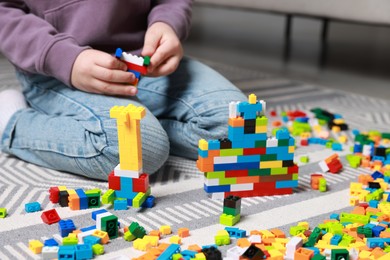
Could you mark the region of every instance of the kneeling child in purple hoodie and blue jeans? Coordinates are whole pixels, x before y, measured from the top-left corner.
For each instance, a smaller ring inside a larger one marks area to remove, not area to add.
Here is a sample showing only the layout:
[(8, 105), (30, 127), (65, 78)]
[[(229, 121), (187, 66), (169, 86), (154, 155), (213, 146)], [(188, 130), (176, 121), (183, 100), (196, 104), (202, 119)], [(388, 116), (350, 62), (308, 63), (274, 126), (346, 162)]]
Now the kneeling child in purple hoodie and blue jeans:
[[(118, 164), (111, 107), (147, 108), (141, 121), (144, 172), (168, 155), (197, 158), (200, 138), (226, 136), (228, 104), (245, 96), (209, 67), (183, 58), (191, 0), (1, 1), (0, 52), (20, 92), (0, 93), (5, 153), (96, 179)], [(138, 87), (112, 55), (151, 57)]]

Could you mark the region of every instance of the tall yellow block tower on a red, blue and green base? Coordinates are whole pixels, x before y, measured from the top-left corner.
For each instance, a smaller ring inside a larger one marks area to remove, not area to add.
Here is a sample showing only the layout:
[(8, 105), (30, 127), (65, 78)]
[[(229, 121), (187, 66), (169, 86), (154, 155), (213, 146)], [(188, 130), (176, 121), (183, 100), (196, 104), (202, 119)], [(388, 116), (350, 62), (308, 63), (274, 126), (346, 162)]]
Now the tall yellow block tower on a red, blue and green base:
[(117, 119), (119, 164), (108, 176), (103, 203), (126, 199), (128, 206), (138, 208), (150, 195), (149, 175), (142, 171), (140, 120), (144, 116), (145, 108), (132, 104), (110, 110), (110, 117)]

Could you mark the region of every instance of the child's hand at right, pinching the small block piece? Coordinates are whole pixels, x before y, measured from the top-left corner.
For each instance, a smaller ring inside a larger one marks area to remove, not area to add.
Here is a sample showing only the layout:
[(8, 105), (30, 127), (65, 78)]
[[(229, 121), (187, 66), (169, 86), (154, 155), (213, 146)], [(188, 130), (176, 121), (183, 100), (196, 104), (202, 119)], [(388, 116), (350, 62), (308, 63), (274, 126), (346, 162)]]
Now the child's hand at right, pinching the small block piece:
[(148, 76), (165, 76), (179, 66), (183, 48), (175, 31), (167, 24), (157, 22), (146, 31), (142, 56), (150, 56)]

